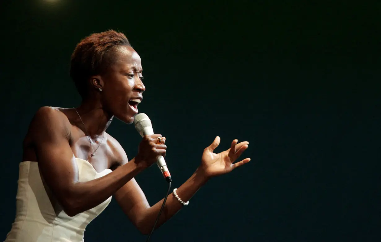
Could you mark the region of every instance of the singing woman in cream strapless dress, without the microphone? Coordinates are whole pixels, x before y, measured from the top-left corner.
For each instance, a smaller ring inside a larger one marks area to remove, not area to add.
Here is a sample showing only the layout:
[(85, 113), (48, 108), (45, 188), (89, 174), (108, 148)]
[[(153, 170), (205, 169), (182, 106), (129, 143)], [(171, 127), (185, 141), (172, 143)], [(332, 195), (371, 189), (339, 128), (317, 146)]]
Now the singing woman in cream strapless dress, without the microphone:
[[(81, 242), (88, 223), (112, 196), (141, 233), (154, 226), (163, 200), (150, 206), (134, 177), (165, 155), (165, 138), (144, 136), (138, 154), (128, 160), (106, 133), (113, 117), (131, 124), (138, 113), (146, 90), (138, 53), (122, 33), (95, 33), (75, 48), (70, 76), (82, 103), (78, 108), (42, 107), (34, 115), (23, 143), (16, 218), (6, 242)], [(234, 140), (230, 149), (213, 153), (219, 142), (216, 137), (194, 174), (168, 196), (156, 227), (208, 179), (250, 161), (234, 163), (248, 142)]]

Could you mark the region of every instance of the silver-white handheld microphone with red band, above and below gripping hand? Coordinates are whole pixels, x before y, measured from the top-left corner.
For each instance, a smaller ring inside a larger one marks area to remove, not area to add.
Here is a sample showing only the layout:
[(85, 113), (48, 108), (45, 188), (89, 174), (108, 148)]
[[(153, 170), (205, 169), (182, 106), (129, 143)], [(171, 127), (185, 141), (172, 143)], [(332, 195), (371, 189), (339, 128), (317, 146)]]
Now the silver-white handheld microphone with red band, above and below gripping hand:
[[(152, 123), (147, 114), (137, 114), (134, 119), (134, 124), (136, 130), (139, 132), (139, 134), (143, 137), (145, 135), (151, 135), (154, 134), (154, 129), (152, 128)], [(164, 157), (162, 155), (159, 155), (157, 157), (156, 161), (157, 166), (159, 167), (160, 171), (162, 172), (165, 180), (167, 182), (172, 182), (171, 174), (169, 173), (169, 170), (166, 166)]]

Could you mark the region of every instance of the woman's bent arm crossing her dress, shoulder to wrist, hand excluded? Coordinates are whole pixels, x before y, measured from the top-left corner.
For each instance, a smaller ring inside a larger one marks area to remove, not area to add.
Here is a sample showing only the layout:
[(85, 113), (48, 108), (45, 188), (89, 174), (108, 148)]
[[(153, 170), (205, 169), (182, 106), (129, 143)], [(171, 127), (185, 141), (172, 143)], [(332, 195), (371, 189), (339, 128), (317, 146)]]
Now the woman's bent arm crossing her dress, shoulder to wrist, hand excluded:
[(79, 182), (77, 163), (69, 145), (70, 127), (64, 114), (43, 107), (35, 114), (30, 133), (43, 179), (66, 214), (74, 216), (101, 204), (144, 166), (126, 163), (106, 176)]

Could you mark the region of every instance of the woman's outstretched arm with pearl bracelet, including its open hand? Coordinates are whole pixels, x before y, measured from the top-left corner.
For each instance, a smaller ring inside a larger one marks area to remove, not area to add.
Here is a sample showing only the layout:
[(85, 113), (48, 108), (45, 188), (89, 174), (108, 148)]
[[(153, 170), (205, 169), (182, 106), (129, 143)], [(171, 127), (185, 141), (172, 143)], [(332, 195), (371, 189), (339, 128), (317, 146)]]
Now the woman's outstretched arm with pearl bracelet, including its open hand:
[[(199, 190), (210, 177), (230, 172), (234, 168), (250, 161), (249, 158), (246, 158), (238, 163), (233, 163), (242, 152), (248, 148), (248, 142), (237, 144), (237, 140), (234, 140), (229, 150), (215, 154), (213, 153), (213, 150), (218, 144), (219, 137), (217, 137), (215, 141), (204, 150), (200, 167), (176, 191), (182, 201), (189, 201), (189, 199), (191, 199), (197, 190)], [(131, 179), (126, 185), (120, 188), (120, 190), (115, 193), (115, 198), (118, 204), (122, 207), (122, 210), (139, 231), (142, 234), (150, 233), (160, 207), (163, 204), (163, 199), (150, 207), (146, 196), (134, 179)], [(176, 214), (181, 207), (182, 204), (177, 200), (173, 193), (168, 195), (168, 199), (156, 228)]]

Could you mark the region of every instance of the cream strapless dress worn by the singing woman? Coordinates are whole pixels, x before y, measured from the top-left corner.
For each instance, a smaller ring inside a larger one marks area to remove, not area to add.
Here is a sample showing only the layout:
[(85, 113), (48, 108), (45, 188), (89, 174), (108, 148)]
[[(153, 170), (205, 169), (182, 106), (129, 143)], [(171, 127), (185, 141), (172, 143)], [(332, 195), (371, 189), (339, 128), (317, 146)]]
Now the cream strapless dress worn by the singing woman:
[[(96, 172), (85, 160), (76, 158), (79, 180), (85, 182), (111, 172)], [(98, 206), (69, 217), (41, 179), (37, 162), (19, 165), (16, 218), (5, 242), (82, 242), (86, 226), (109, 205), (111, 197)]]

